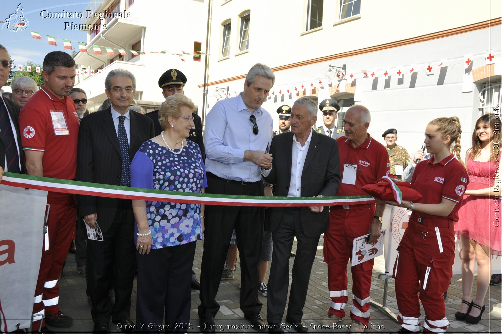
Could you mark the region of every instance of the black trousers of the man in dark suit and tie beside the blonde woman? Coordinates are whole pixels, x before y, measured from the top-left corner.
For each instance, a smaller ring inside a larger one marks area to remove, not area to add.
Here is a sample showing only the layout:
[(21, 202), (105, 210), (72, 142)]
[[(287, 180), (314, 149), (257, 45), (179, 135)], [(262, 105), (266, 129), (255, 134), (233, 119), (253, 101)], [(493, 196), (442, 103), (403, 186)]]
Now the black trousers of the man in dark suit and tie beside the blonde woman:
[[(99, 216), (97, 217), (99, 224)], [(131, 313), (136, 265), (134, 215), (131, 200), (118, 200), (115, 218), (103, 233), (104, 241), (87, 240), (86, 274), (94, 322), (126, 319)], [(108, 298), (115, 287), (115, 305)]]

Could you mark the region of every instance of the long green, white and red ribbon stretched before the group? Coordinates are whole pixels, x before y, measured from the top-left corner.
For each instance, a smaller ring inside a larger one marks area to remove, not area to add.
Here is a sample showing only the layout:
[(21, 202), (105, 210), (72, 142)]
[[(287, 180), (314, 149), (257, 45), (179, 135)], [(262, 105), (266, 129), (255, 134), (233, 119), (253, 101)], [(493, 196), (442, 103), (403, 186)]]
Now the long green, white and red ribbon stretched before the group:
[(32, 175), (5, 173), (3, 185), (44, 190), (56, 193), (89, 195), (131, 200), (169, 203), (195, 203), (233, 206), (329, 206), (375, 203), (369, 195), (334, 197), (264, 197), (185, 193), (134, 187), (103, 185), (99, 183), (51, 179)]

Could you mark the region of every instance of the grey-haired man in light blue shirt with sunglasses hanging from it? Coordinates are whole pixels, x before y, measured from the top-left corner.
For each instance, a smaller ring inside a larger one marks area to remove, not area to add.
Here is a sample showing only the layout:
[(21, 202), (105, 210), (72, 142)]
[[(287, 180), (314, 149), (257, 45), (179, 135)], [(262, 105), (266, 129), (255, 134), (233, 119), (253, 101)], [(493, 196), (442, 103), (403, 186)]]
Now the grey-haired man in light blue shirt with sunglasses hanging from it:
[[(206, 193), (264, 196), (261, 168), (270, 169), (267, 153), (272, 140), (272, 116), (261, 106), (274, 85), (275, 75), (264, 64), (247, 73), (244, 90), (237, 97), (218, 101), (207, 114)], [(267, 187), (270, 194), (272, 190)], [(264, 208), (206, 205), (204, 253), (198, 307), (200, 327), (215, 331), (219, 309), (216, 301), (228, 244), (235, 228), (240, 253), (240, 309), (252, 328), (265, 328), (258, 299), (258, 266), (262, 250)]]

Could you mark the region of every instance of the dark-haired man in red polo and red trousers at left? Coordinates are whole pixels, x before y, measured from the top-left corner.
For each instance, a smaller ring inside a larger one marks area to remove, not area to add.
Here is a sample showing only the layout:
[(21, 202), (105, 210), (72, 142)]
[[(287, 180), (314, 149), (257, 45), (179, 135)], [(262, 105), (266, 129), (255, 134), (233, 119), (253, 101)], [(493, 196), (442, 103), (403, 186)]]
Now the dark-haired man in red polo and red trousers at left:
[[(19, 115), (26, 174), (73, 180), (77, 170), (78, 115), (68, 95), (75, 83), (75, 61), (65, 52), (54, 51), (45, 56), (43, 66), (45, 85)], [(74, 195), (53, 192), (47, 194), (47, 203), (50, 211), (35, 288), (34, 329), (39, 328), (38, 320), (44, 314), (43, 321), (54, 327), (70, 327), (73, 322), (59, 310), (58, 278), (75, 230), (77, 204)]]

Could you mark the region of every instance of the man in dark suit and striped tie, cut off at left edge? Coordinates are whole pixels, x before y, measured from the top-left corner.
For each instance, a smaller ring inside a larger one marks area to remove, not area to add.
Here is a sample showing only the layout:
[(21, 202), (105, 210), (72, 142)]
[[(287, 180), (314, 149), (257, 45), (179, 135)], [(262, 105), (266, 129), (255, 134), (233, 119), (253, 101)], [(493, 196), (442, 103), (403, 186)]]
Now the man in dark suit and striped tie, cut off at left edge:
[[(11, 61), (7, 49), (0, 44), (0, 89), (7, 84)], [(19, 107), (9, 99), (0, 97), (0, 167), (5, 172), (23, 172), (23, 149), (19, 132)]]

